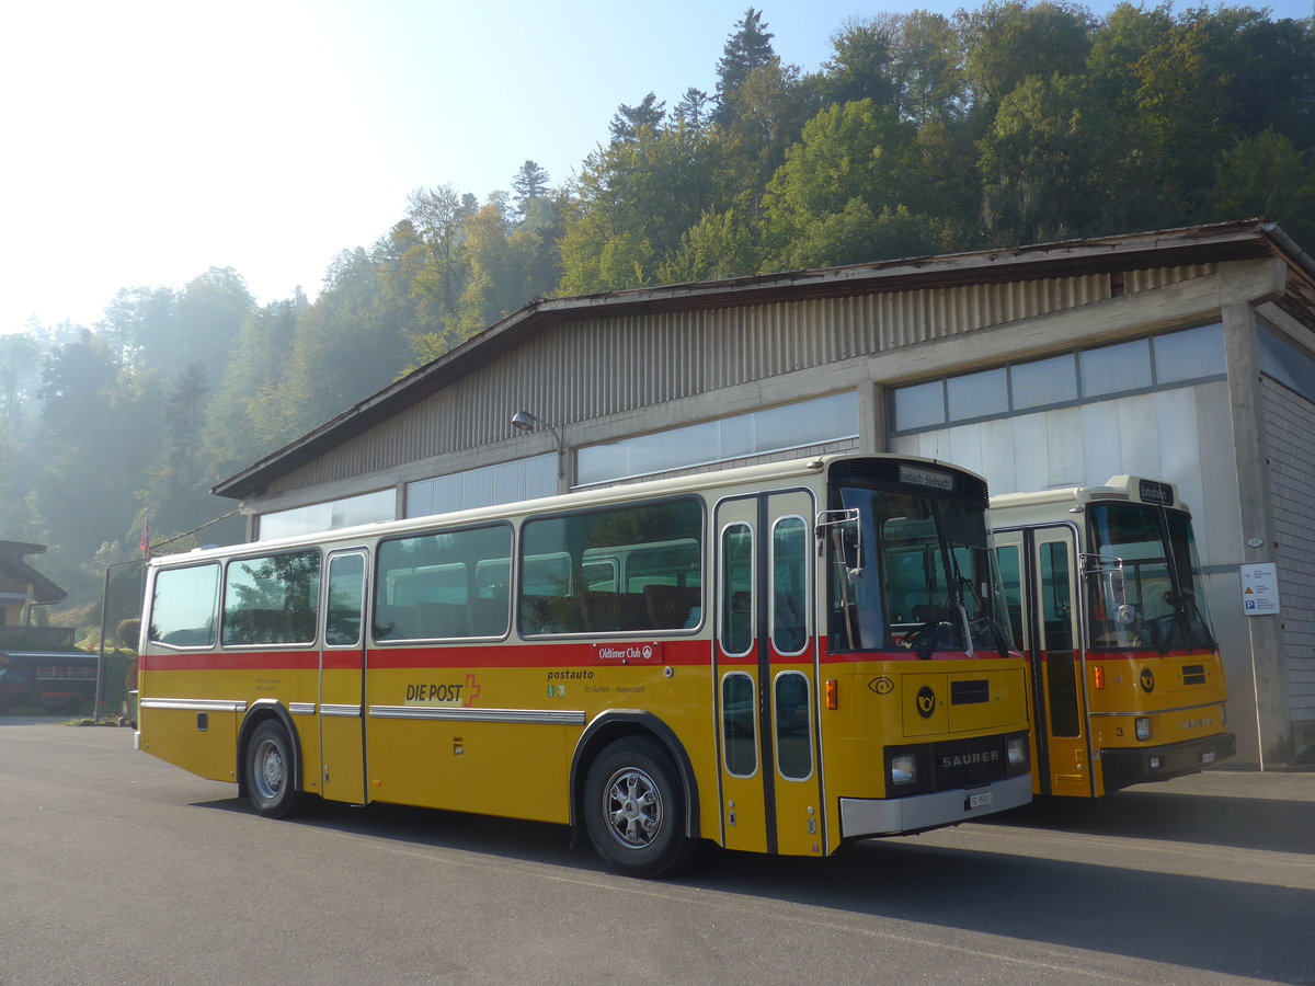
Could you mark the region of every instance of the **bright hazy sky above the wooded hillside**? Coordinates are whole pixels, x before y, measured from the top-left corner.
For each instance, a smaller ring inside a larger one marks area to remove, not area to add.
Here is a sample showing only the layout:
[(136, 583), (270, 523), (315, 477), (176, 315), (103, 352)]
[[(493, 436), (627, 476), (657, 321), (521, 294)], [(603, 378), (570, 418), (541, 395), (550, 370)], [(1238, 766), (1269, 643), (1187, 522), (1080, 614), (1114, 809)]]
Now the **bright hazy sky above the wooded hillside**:
[[(711, 92), (744, 0), (71, 0), (0, 13), (0, 333), (93, 325), (120, 288), (233, 267), (314, 297), (414, 188), (558, 184), (622, 103)], [(961, 3), (764, 3), (805, 71), (849, 17)], [(1109, 0), (1089, 4), (1103, 13)], [(1237, 5), (1237, 4), (1231, 4)], [(1260, 4), (1257, 4), (1260, 5)], [(1176, 9), (1184, 8), (1180, 3)], [(1281, 0), (1274, 17), (1306, 17)]]

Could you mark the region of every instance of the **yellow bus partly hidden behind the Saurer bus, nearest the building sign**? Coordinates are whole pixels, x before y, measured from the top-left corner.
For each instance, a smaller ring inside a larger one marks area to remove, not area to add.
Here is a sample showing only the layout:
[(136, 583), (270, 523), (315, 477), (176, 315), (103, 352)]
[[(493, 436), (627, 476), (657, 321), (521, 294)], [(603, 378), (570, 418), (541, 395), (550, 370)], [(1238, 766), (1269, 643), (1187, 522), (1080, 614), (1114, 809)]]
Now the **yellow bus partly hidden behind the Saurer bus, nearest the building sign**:
[(1036, 794), (1101, 797), (1236, 752), (1191, 514), (1173, 484), (992, 498), (1032, 672)]

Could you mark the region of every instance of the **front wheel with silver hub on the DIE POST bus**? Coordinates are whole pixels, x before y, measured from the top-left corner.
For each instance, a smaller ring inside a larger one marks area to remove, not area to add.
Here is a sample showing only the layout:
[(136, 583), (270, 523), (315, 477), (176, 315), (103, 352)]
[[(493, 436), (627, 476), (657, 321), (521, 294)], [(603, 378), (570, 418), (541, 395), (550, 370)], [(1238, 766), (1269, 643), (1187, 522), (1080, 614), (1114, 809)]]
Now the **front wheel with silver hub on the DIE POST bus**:
[(685, 791), (671, 757), (633, 736), (604, 748), (584, 782), (584, 824), (602, 860), (629, 877), (663, 877), (684, 865)]

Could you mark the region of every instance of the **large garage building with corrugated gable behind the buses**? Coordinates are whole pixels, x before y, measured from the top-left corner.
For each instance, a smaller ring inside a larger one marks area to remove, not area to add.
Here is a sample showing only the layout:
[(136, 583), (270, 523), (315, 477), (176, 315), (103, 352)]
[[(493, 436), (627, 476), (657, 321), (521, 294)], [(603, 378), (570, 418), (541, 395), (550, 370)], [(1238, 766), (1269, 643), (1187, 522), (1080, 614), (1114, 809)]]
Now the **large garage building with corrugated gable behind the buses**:
[(537, 301), (213, 492), (264, 539), (842, 451), (1177, 484), (1237, 763), (1315, 763), (1315, 258), (1265, 220)]

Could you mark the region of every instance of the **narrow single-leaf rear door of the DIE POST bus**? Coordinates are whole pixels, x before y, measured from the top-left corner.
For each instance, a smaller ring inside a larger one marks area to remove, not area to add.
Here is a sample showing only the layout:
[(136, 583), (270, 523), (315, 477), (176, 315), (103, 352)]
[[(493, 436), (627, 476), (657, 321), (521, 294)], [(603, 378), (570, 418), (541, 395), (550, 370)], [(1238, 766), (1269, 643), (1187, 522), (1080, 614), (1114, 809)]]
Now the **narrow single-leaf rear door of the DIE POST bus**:
[[(330, 801), (366, 803), (364, 551), (329, 556), (320, 651), (320, 781)], [(310, 765), (306, 766), (310, 769)]]

